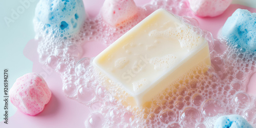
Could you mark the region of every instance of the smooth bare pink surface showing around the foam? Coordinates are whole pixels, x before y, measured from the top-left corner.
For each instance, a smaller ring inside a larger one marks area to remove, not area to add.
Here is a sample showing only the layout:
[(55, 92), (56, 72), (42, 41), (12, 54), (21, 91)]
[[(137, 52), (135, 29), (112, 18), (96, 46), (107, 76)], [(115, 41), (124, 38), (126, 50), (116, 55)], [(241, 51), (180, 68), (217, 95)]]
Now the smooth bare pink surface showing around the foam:
[[(135, 1), (138, 6), (144, 5), (147, 1)], [(84, 0), (84, 6), (90, 17), (98, 14), (103, 0), (89, 1)], [(214, 18), (199, 18), (194, 16), (199, 23), (200, 28), (210, 31), (214, 37), (217, 37), (218, 31), (224, 25), (226, 19), (237, 9), (248, 9), (251, 12), (256, 12), (256, 9), (248, 8), (241, 5), (231, 5), (224, 14)], [(83, 45), (83, 57), (94, 57), (98, 55), (106, 47), (102, 42), (91, 41)], [(60, 76), (46, 69), (38, 62), (38, 54), (36, 51), (37, 41), (30, 40), (24, 49), (24, 55), (33, 61), (33, 72), (44, 73), (47, 75), (46, 82), (52, 91), (52, 98), (46, 105), (45, 110), (36, 116), (28, 116), (20, 111), (17, 111), (14, 116), (9, 118), (9, 124), (0, 122), (0, 127), (84, 127), (84, 121), (91, 113), (89, 108), (75, 100), (67, 98), (62, 93), (62, 82)], [(256, 74), (252, 75), (247, 89), (248, 93), (256, 94)]]

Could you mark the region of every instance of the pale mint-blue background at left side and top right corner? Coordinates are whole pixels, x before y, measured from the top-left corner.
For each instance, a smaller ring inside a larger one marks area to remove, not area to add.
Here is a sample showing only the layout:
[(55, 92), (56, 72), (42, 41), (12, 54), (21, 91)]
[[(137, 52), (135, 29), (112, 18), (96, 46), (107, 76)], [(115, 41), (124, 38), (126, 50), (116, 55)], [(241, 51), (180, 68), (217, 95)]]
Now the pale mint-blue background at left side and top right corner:
[[(23, 5), (21, 2), (29, 2)], [(32, 19), (34, 10), (39, 0), (0, 0), (0, 121), (4, 114), (4, 69), (9, 69), (9, 89), (15, 80), (29, 72), (32, 72), (33, 63), (27, 59), (23, 50), (30, 39), (34, 38)], [(256, 8), (256, 0), (234, 0), (235, 4), (242, 4)], [(12, 9), (21, 13), (16, 16), (14, 23), (9, 27), (5, 17), (12, 18)], [(24, 10), (23, 10), (24, 9)], [(24, 11), (24, 12), (23, 12)], [(9, 102), (9, 117), (16, 112), (16, 109)]]

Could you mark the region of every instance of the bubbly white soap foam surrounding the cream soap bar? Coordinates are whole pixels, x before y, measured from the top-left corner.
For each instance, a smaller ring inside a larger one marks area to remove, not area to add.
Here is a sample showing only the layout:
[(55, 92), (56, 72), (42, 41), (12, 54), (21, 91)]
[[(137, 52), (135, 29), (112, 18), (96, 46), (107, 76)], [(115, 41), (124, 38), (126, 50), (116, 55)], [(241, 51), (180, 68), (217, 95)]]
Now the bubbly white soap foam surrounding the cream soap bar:
[[(99, 15), (87, 18), (78, 34), (65, 39), (54, 31), (37, 31), (39, 61), (60, 74), (63, 93), (90, 108), (87, 127), (212, 127), (222, 115), (242, 115), (256, 126), (256, 97), (245, 93), (250, 74), (255, 70), (255, 53), (227, 45), (225, 38), (213, 39), (197, 27), (193, 30), (209, 43), (211, 66), (204, 63), (176, 80), (170, 87), (141, 108), (126, 103), (130, 95), (92, 65), (94, 58), (81, 58), (81, 45), (99, 40), (109, 46), (144, 17), (158, 8), (183, 16), (182, 21), (198, 25), (190, 18), (185, 0), (154, 0), (138, 8), (125, 23), (112, 27)], [(35, 24), (35, 28), (38, 27)], [(42, 27), (39, 25), (39, 27)], [(225, 46), (216, 50), (216, 43)], [(207, 70), (208, 69), (208, 70)], [(97, 122), (97, 123), (96, 123)]]

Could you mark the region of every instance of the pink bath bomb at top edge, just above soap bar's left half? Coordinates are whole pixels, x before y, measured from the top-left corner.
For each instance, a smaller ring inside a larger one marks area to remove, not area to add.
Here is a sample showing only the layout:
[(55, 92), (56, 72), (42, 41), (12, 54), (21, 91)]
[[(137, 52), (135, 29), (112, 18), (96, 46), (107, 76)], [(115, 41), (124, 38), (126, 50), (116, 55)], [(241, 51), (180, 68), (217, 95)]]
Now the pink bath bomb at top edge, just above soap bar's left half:
[(133, 0), (105, 0), (100, 13), (106, 23), (118, 26), (137, 13), (137, 6)]

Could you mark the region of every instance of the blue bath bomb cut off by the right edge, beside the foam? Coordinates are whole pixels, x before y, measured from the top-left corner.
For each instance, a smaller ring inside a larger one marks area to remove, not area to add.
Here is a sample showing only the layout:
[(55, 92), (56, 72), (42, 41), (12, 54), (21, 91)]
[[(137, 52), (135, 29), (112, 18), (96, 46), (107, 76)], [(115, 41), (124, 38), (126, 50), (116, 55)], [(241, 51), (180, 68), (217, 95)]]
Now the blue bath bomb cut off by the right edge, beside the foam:
[(224, 24), (222, 35), (233, 45), (246, 51), (256, 51), (256, 13), (237, 9)]

